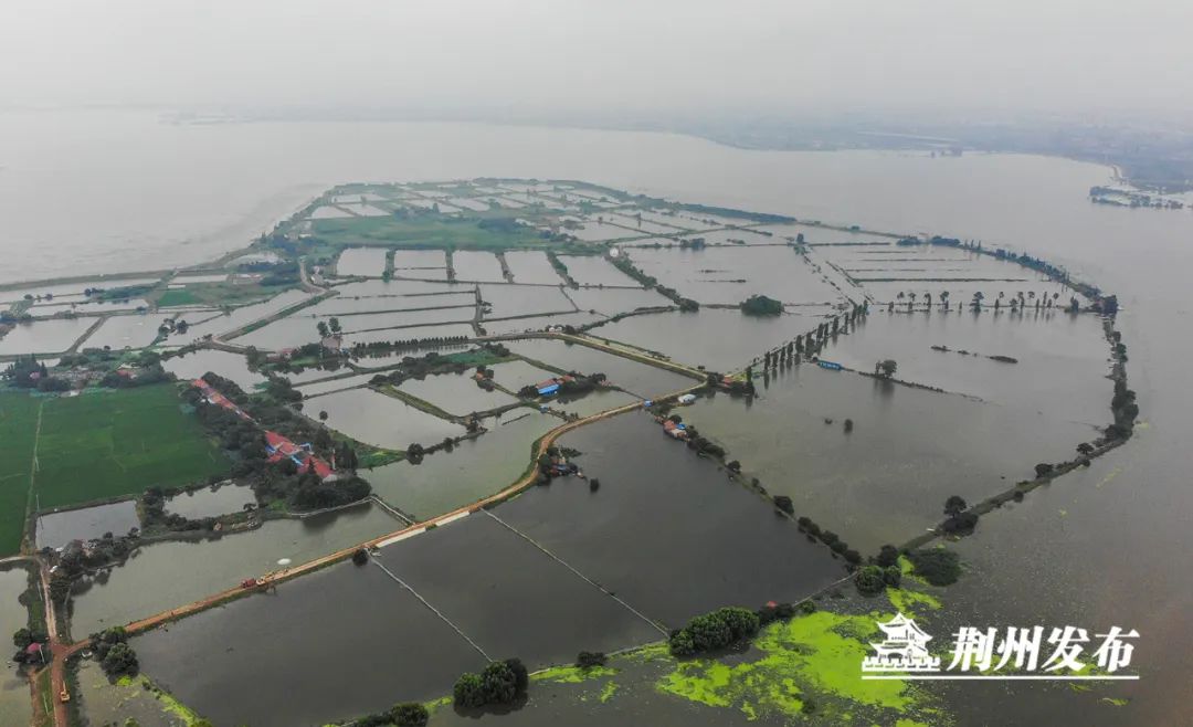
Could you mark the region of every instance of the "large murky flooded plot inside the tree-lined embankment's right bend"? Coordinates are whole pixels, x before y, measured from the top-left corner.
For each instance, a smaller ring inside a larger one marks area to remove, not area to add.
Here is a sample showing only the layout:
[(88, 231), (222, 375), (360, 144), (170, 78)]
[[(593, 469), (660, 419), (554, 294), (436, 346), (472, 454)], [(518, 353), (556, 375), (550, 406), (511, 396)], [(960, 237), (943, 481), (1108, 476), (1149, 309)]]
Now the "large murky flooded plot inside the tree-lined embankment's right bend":
[(1098, 435), (1084, 424), (809, 364), (755, 384), (760, 395), (748, 407), (717, 395), (684, 418), (769, 492), (791, 497), (796, 515), (863, 553), (937, 524), (951, 495), (981, 501)]

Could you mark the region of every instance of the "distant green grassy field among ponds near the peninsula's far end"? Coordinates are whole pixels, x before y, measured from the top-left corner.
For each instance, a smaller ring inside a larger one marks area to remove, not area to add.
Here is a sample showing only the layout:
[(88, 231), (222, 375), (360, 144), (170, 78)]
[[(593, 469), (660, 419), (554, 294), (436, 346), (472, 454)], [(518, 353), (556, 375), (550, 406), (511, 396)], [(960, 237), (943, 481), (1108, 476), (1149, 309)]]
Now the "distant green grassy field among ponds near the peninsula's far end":
[(527, 245), (546, 245), (528, 228), (513, 232), (483, 229), (477, 218), (418, 216), (344, 217), (315, 220), (314, 232), (338, 246), (402, 245), (410, 247), (455, 247), (458, 249), (503, 249)]

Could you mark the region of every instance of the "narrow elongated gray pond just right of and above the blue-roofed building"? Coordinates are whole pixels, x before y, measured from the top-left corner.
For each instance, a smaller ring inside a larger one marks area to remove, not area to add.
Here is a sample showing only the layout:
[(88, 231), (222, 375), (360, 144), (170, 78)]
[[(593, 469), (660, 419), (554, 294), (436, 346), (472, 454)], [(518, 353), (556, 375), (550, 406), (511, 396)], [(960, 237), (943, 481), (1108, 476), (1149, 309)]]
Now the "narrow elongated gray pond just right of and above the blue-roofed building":
[(585, 375), (604, 374), (607, 383), (644, 399), (669, 394), (696, 383), (687, 376), (580, 344), (525, 340), (509, 341), (506, 346), (532, 363), (542, 362), (563, 371)]

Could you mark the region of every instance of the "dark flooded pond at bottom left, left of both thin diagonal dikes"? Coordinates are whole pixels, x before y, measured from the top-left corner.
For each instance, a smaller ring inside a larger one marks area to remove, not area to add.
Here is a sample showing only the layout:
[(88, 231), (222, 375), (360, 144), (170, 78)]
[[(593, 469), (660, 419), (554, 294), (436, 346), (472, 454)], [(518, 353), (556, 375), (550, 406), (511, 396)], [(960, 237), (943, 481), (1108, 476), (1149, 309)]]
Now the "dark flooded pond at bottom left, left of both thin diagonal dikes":
[[(137, 636), (141, 669), (216, 725), (293, 727), (438, 697), (486, 659), (376, 565), (346, 562)], [(351, 654), (351, 669), (295, 669)]]

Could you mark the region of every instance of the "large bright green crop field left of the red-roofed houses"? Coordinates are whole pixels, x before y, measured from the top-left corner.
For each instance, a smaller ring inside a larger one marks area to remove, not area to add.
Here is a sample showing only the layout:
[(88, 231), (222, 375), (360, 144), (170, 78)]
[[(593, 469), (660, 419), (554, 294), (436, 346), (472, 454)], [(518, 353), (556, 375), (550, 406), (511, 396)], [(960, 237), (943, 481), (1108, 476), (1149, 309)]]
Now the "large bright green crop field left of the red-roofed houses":
[(228, 470), (172, 384), (49, 399), (33, 492), (42, 510), (202, 480)]

